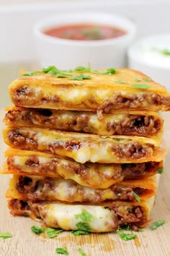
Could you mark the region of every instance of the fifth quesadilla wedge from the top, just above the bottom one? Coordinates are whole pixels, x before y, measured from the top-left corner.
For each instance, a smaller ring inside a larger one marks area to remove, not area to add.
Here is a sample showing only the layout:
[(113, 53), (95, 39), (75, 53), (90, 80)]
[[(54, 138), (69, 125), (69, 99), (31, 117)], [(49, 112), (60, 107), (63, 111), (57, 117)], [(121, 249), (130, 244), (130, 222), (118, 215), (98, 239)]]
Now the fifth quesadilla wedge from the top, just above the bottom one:
[(14, 175), (9, 182), (7, 198), (32, 201), (101, 203), (107, 200), (146, 200), (155, 195), (156, 176), (120, 182), (107, 189), (81, 186), (70, 179)]

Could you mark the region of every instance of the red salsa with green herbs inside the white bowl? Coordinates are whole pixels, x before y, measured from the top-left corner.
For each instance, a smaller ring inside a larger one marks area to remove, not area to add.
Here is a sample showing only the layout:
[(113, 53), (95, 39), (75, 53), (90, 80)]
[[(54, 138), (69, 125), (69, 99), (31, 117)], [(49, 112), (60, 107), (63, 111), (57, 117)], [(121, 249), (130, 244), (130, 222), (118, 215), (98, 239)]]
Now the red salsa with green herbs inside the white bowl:
[(97, 24), (63, 25), (60, 27), (51, 27), (43, 33), (55, 38), (69, 40), (104, 40), (127, 34), (127, 32), (120, 27)]

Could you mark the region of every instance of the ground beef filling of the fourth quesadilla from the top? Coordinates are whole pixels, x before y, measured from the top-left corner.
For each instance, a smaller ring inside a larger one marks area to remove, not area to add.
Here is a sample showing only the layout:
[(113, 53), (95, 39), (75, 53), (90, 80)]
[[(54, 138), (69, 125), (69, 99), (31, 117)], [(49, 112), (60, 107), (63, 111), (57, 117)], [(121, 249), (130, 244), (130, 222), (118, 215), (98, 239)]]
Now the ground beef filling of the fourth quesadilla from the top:
[[(8, 157), (7, 164), (17, 168), (18, 171), (22, 172), (21, 166), (17, 166), (14, 158)], [(108, 163), (107, 166), (112, 166), (112, 163)], [(77, 163), (76, 161), (61, 161), (60, 158), (51, 158), (50, 161), (40, 161), (37, 155), (30, 155), (24, 163), (26, 168), (31, 168), (32, 174), (48, 176), (49, 172), (56, 178), (65, 178), (58, 174), (58, 168), (62, 168), (65, 172), (72, 175), (81, 176), (81, 179), (86, 181), (88, 184), (93, 183), (92, 180), (95, 178), (98, 182), (104, 182), (107, 179), (120, 179), (121, 176), (124, 179), (140, 179), (143, 176), (150, 176), (156, 173), (157, 168), (160, 167), (159, 162), (144, 162), (144, 163), (115, 163), (112, 176), (108, 176), (103, 171), (100, 171), (101, 164), (96, 163)], [(99, 177), (99, 180), (98, 178)], [(90, 183), (91, 181), (91, 183)]]

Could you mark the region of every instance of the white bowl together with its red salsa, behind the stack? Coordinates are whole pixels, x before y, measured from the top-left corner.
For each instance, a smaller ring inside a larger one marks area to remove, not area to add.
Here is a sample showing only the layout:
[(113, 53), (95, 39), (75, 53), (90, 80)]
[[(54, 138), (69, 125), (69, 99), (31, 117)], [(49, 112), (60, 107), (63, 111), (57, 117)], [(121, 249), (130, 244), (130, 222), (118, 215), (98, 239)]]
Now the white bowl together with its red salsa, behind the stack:
[(99, 12), (65, 13), (35, 25), (40, 65), (73, 69), (88, 63), (94, 69), (126, 67), (126, 51), (135, 37), (127, 17)]

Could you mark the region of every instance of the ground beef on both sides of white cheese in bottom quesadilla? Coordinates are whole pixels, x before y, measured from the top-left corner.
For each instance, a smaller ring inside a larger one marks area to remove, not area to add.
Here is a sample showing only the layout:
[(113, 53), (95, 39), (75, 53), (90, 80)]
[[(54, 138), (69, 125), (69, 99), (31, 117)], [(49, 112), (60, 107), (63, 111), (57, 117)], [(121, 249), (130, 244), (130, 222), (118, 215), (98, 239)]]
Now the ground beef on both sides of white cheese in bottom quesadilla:
[[(35, 219), (41, 218), (40, 209), (43, 207), (44, 203), (31, 201), (24, 202), (22, 200), (12, 199), (9, 200), (8, 205), (12, 215), (30, 216), (30, 218)], [(137, 231), (139, 227), (146, 226), (146, 223), (148, 222), (145, 216), (145, 210), (140, 206), (113, 204), (109, 205), (108, 208), (115, 216), (115, 229), (122, 225), (128, 225)], [(43, 217), (45, 218), (45, 213), (43, 214)]]

